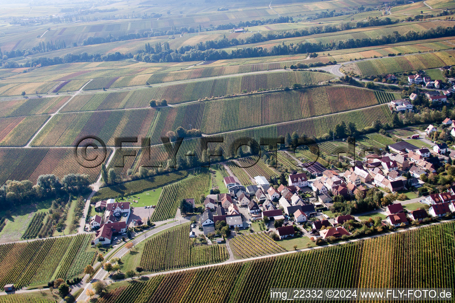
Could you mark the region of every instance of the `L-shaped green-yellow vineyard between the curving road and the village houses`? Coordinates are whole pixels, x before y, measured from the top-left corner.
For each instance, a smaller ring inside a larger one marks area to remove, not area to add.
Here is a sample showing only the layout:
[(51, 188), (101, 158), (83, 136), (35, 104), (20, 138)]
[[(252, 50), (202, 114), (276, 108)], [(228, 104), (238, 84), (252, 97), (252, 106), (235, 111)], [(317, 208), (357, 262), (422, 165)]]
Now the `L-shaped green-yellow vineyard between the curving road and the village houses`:
[(225, 245), (194, 245), (190, 231), (190, 224), (183, 224), (147, 240), (140, 266), (155, 272), (218, 263), (229, 257)]

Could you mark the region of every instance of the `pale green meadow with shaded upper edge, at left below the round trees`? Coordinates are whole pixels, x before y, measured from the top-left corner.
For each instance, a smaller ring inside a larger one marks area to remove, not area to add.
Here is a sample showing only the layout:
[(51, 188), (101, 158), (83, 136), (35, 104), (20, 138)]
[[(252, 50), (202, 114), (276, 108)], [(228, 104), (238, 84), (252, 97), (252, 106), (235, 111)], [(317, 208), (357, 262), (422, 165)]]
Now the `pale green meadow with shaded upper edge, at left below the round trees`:
[[(31, 219), (37, 212), (47, 212), (51, 208), (53, 199), (40, 201), (37, 204), (22, 205), (6, 219), (5, 227), (0, 232), (0, 243), (20, 240)], [(0, 211), (5, 216), (6, 211)], [(25, 227), (24, 227), (25, 226)]]

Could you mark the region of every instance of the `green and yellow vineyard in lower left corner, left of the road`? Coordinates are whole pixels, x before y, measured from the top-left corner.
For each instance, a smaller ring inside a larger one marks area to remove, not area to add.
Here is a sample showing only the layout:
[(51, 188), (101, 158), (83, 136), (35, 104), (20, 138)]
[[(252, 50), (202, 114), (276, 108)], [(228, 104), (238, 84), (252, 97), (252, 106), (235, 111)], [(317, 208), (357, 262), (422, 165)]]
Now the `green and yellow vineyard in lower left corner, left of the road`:
[(47, 284), (52, 277), (72, 278), (93, 262), (91, 235), (0, 245), (0, 281), (16, 288)]

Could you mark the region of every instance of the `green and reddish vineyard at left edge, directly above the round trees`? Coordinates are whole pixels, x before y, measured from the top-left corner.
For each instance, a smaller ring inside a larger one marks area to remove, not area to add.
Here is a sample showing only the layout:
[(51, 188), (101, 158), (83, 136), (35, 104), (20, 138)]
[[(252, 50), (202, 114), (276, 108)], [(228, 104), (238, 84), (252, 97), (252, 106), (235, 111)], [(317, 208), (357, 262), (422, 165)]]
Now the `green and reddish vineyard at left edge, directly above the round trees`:
[[(99, 151), (99, 150), (98, 150)], [(111, 154), (107, 150), (107, 159)], [(96, 153), (91, 154), (95, 156)], [(11, 161), (11, 159), (15, 159)], [(86, 164), (87, 165), (87, 164)], [(41, 174), (55, 174), (60, 179), (66, 174), (87, 174), (94, 182), (100, 168), (87, 169), (74, 157), (74, 150), (68, 149), (23, 149), (0, 148), (0, 183), (6, 180), (30, 180), (35, 183)]]

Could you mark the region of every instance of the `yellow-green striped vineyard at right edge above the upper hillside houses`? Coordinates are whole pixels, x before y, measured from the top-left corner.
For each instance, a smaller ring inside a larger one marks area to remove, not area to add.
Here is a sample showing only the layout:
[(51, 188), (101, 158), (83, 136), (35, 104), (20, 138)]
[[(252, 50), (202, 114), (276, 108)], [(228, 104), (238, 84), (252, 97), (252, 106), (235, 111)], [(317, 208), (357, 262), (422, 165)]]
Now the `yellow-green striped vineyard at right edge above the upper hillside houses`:
[(413, 70), (435, 69), (446, 65), (455, 65), (455, 51), (439, 51), (427, 54), (395, 56), (375, 60), (349, 63), (343, 68), (363, 76), (381, 75), (384, 73), (403, 73)]

